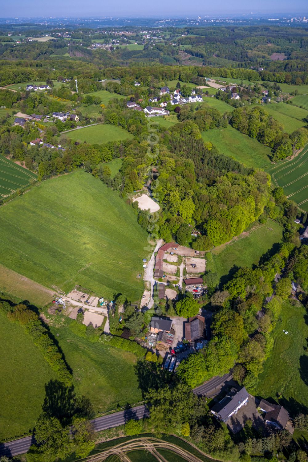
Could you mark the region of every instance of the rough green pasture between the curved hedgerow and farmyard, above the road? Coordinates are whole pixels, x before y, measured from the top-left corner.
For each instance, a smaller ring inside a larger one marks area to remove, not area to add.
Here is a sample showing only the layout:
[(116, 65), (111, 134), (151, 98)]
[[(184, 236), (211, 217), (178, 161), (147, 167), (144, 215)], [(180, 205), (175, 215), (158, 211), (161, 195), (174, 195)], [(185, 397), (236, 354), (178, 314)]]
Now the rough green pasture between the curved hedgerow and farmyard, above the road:
[(72, 368), (75, 390), (90, 399), (96, 415), (116, 409), (118, 404), (124, 407), (142, 401), (133, 353), (76, 335), (72, 328), (77, 322), (68, 317), (63, 316), (57, 324), (50, 325), (50, 330), (59, 334), (56, 339)]

